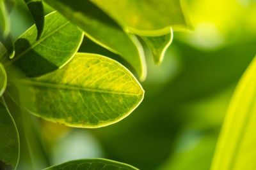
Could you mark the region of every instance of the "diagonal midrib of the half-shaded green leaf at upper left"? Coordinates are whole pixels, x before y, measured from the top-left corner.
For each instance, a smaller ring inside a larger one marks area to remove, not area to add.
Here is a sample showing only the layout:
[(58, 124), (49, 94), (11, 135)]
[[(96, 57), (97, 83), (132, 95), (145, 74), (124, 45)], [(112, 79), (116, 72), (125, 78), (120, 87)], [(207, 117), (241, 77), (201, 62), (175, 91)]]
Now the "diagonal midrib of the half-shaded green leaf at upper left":
[(57, 29), (55, 29), (54, 31), (50, 32), (49, 34), (47, 34), (46, 36), (38, 39), (38, 41), (36, 41), (35, 43), (33, 43), (33, 45), (29, 46), (29, 48), (27, 48), (26, 50), (24, 50), (24, 52), (20, 53), (19, 55), (17, 55), (16, 57), (14, 57), (12, 60), (10, 60), (9, 62), (7, 62), (8, 64), (12, 64), (13, 62), (15, 62), (15, 60), (18, 60), (20, 57), (22, 57), (22, 55), (24, 55), (25, 53), (29, 52), (30, 50), (32, 50), (33, 48), (35, 48), (37, 45), (39, 45), (42, 41), (44, 41), (45, 39), (49, 38), (49, 36), (51, 36), (52, 34), (54, 34), (55, 32), (59, 31), (60, 29), (62, 29), (63, 27), (65, 27), (70, 21), (65, 22), (63, 25), (61, 25), (60, 27), (58, 27)]

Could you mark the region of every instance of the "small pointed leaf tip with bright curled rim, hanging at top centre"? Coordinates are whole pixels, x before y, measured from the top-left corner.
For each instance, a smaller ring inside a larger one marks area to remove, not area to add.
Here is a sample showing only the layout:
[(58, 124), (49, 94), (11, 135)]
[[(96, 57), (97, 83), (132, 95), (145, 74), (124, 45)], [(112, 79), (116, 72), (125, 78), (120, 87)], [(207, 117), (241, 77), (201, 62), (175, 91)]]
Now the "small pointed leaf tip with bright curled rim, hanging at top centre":
[(152, 51), (154, 62), (157, 65), (161, 64), (167, 48), (172, 43), (173, 31), (171, 27), (170, 30), (170, 33), (163, 36), (141, 36), (143, 41), (145, 41), (145, 43)]

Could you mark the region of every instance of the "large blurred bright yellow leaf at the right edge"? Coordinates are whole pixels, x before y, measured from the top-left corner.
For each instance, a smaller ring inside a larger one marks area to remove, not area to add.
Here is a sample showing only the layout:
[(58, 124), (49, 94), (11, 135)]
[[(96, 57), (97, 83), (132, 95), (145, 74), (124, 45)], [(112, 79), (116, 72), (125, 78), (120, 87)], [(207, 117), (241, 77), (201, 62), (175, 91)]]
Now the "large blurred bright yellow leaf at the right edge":
[(256, 57), (230, 101), (211, 170), (256, 169)]

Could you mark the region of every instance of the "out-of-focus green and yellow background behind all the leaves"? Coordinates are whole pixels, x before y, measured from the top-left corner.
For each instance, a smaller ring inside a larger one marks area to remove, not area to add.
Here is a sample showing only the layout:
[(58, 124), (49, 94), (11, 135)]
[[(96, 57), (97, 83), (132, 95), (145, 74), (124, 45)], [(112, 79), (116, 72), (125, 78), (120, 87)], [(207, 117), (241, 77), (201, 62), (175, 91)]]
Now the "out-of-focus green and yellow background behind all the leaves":
[[(33, 24), (23, 1), (17, 2), (11, 15), (14, 39)], [(187, 3), (195, 29), (174, 32), (160, 66), (145, 46), (145, 98), (129, 117), (100, 129), (74, 129), (31, 116), (34, 145), (23, 147), (18, 168), (104, 157), (139, 169), (209, 169), (230, 97), (256, 54), (256, 1)], [(51, 8), (45, 7), (47, 14)], [(100, 53), (131, 68), (88, 38), (79, 51)], [(21, 145), (26, 145), (28, 137), (23, 138)]]

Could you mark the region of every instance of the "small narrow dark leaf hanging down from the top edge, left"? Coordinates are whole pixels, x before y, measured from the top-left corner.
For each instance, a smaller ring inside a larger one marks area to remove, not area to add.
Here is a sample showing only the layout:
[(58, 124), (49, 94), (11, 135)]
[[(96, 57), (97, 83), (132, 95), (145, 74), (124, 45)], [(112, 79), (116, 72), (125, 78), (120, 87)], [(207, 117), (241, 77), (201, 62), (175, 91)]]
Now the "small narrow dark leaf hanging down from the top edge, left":
[(44, 30), (44, 6), (40, 0), (24, 0), (35, 21), (37, 38), (39, 39)]

